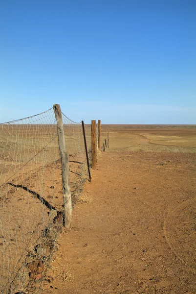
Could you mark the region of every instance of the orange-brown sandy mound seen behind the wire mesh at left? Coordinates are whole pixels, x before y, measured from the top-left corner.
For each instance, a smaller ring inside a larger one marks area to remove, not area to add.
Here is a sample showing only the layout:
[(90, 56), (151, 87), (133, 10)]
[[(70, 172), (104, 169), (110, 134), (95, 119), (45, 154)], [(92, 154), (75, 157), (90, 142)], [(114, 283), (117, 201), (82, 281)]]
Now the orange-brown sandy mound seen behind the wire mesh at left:
[[(80, 161), (81, 160), (81, 161)], [(73, 206), (78, 201), (84, 182), (87, 180), (84, 156), (69, 156), (69, 179)], [(80, 164), (79, 164), (80, 162)], [(26, 172), (17, 174), (9, 184), (0, 190), (0, 291), (16, 293), (27, 289), (27, 293), (40, 293), (40, 281), (34, 285), (29, 279), (26, 264), (44, 259), (47, 267), (53, 256), (55, 241), (60, 229), (54, 225), (50, 210), (63, 211), (63, 191), (61, 161), (33, 169), (27, 166)], [(53, 226), (53, 236), (45, 238), (46, 228)], [(38, 254), (36, 246), (44, 244), (46, 254)], [(30, 284), (29, 284), (30, 283)], [(10, 290), (9, 290), (10, 287)], [(36, 289), (36, 291), (35, 291)]]

